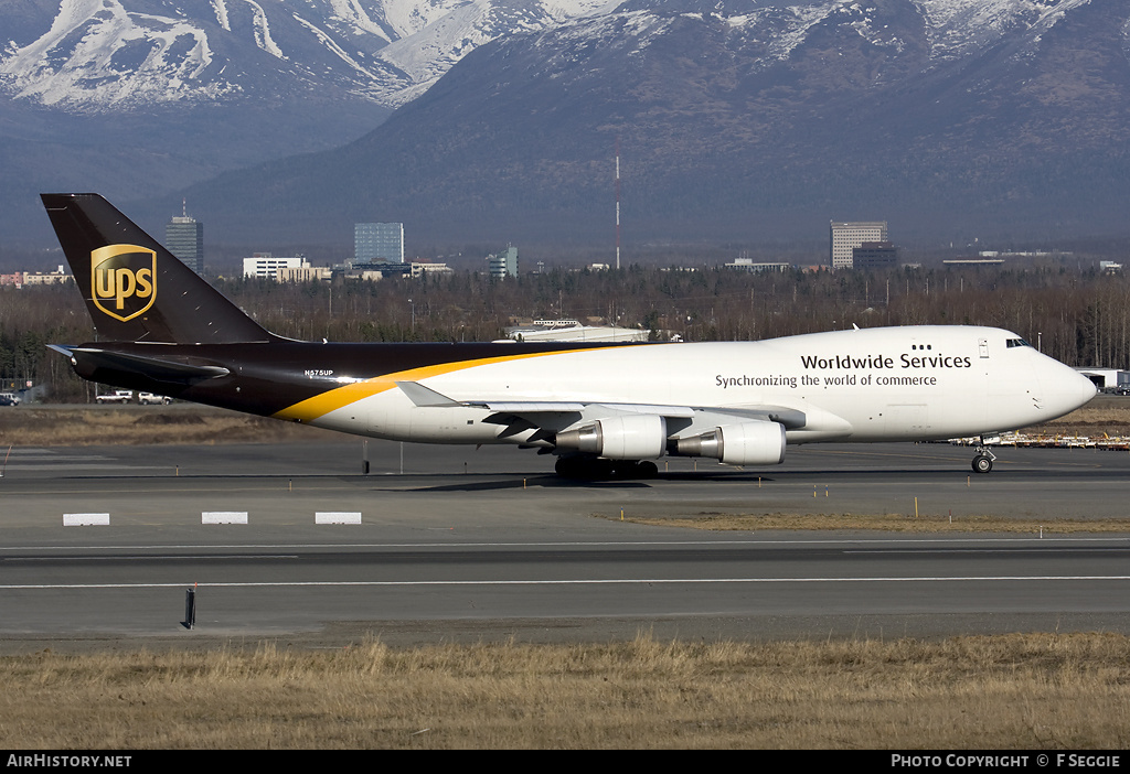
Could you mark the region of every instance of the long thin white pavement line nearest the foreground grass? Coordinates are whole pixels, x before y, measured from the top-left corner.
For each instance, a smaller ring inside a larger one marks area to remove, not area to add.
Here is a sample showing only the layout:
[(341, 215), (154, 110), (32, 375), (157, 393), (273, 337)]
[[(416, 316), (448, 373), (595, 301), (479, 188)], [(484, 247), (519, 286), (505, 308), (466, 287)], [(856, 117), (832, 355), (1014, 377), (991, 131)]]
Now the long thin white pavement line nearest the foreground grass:
[(1032, 581), (1130, 581), (1130, 575), (957, 575), (901, 578), (601, 578), (576, 580), (450, 580), (450, 581), (240, 581), (180, 583), (12, 583), (5, 591), (54, 589), (166, 589), (166, 588), (298, 588), (298, 587), (435, 587), (435, 586), (673, 586), (715, 583), (911, 583), (911, 582), (1032, 582)]

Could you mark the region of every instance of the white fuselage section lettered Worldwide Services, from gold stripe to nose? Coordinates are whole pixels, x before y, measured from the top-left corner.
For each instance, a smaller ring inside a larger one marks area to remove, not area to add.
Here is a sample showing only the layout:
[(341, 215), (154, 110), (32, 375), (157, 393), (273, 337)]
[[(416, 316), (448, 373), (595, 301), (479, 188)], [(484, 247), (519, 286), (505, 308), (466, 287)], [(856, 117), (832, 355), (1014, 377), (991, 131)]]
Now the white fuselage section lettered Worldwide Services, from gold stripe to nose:
[[(388, 381), (388, 380), (385, 380)], [(582, 404), (555, 430), (632, 406), (688, 407), (671, 438), (710, 430), (727, 412), (803, 414), (789, 443), (931, 440), (1049, 421), (1094, 396), (1092, 382), (999, 328), (836, 331), (760, 342), (652, 344), (468, 364), (418, 379), (460, 404)], [(657, 408), (655, 413), (663, 413)], [(388, 388), (312, 424), (406, 441), (523, 443), (534, 434), (485, 405), (417, 405)]]

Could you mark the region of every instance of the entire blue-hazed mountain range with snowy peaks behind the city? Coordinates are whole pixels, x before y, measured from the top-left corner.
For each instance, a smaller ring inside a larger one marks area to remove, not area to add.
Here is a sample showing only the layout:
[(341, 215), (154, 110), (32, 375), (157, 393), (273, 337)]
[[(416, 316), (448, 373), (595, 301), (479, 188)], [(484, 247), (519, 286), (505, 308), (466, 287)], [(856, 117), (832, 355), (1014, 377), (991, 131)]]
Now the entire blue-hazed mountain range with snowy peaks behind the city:
[(50, 187), (111, 195), (324, 151), (193, 188), (232, 229), (596, 234), (617, 138), (672, 237), (1111, 230), (1130, 196), (1125, 0), (23, 0), (0, 30), (16, 187), (45, 134)]

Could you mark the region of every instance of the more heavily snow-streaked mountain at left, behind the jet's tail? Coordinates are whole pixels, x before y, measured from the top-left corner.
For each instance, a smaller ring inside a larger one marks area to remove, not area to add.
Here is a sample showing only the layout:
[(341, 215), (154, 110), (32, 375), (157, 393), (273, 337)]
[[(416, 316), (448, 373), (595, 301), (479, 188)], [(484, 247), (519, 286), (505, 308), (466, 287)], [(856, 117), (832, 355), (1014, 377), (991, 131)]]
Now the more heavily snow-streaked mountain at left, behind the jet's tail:
[(0, 2), (0, 231), (42, 231), (38, 191), (151, 195), (340, 146), (476, 46), (608, 3)]

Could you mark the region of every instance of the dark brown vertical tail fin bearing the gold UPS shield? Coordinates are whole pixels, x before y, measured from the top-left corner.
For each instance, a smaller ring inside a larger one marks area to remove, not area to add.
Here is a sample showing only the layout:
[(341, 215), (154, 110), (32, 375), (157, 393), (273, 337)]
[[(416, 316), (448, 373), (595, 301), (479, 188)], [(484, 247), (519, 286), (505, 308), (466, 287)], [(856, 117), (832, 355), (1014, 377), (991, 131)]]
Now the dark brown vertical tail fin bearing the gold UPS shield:
[(101, 336), (220, 344), (272, 336), (98, 194), (41, 194)]

